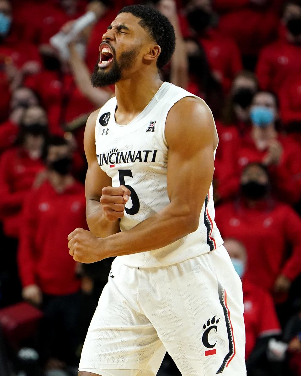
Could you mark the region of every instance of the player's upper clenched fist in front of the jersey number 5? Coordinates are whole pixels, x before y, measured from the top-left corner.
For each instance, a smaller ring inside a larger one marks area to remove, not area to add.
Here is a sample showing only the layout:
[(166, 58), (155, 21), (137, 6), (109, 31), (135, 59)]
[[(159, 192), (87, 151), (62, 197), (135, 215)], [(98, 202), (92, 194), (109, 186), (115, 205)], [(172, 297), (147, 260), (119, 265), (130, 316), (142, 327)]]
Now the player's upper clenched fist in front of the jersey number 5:
[(122, 218), (125, 215), (125, 204), (130, 195), (131, 191), (124, 185), (102, 188), (100, 204), (103, 217), (108, 222), (115, 222), (118, 218)]

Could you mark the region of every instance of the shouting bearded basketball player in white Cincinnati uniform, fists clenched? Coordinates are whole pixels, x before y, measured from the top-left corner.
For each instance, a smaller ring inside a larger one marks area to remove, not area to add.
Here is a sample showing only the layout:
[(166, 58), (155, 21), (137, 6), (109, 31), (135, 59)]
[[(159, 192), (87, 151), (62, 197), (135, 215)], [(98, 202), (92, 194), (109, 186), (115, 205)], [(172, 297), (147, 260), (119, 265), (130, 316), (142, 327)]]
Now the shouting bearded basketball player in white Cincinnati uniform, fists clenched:
[(166, 17), (123, 8), (102, 36), (94, 86), (116, 97), (85, 130), (90, 231), (80, 262), (118, 256), (82, 349), (80, 376), (154, 376), (166, 350), (183, 376), (243, 376), (240, 278), (214, 223), (218, 143), (210, 109), (162, 82), (175, 48)]

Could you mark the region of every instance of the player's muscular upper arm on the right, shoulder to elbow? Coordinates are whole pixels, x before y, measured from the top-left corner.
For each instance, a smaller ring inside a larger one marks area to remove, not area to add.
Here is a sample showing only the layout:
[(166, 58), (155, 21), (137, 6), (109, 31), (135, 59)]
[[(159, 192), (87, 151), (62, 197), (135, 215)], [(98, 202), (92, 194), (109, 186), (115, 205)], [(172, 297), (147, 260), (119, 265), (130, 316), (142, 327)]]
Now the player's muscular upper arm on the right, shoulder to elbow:
[(214, 171), (217, 136), (212, 114), (204, 103), (185, 98), (170, 111), (165, 134), (169, 146), (167, 190), (170, 202), (198, 218)]

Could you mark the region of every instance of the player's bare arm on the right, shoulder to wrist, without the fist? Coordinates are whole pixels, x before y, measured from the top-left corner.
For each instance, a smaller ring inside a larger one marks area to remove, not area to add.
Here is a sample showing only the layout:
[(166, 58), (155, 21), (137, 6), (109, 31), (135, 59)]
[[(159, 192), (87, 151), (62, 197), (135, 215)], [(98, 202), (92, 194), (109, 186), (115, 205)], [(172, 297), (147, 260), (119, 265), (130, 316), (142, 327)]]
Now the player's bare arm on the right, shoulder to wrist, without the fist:
[(212, 115), (204, 103), (184, 98), (170, 110), (165, 135), (170, 204), (131, 230), (103, 239), (101, 258), (158, 249), (198, 228), (214, 170), (217, 136)]

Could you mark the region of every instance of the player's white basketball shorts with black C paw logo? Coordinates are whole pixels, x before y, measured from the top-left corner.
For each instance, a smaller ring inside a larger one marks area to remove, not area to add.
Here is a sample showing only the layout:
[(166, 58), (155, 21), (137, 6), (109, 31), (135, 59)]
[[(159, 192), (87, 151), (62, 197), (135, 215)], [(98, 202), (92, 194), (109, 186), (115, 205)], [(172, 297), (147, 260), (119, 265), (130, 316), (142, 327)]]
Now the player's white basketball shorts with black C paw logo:
[(79, 371), (155, 376), (166, 350), (183, 376), (245, 376), (242, 284), (225, 247), (165, 267), (112, 263)]

